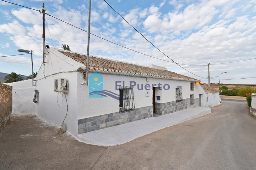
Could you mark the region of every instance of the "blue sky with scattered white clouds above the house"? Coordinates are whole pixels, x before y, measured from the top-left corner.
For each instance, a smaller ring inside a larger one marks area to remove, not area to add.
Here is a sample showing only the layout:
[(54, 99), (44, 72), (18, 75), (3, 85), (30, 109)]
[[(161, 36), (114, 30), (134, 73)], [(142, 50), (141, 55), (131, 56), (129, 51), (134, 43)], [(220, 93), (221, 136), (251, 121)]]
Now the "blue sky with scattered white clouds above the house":
[[(69, 21), (80, 0), (45, 0), (46, 12)], [(11, 0), (41, 9), (42, 0)], [(253, 0), (108, 0), (133, 26), (174, 61), (205, 65), (256, 58), (256, 1)], [(14, 55), (17, 49), (33, 50), (34, 70), (42, 62), (42, 17), (39, 12), (0, 2), (0, 56)], [(92, 1), (91, 32), (131, 49), (169, 60), (105, 4)], [(46, 44), (61, 48), (68, 44), (75, 52), (87, 53), (87, 34), (46, 16)], [(71, 24), (87, 30), (88, 0), (81, 0)], [(51, 34), (51, 36), (50, 36)], [(52, 37), (52, 39), (50, 38)], [(60, 38), (61, 37), (61, 38)], [(199, 77), (169, 62), (127, 51), (91, 36), (90, 54), (148, 66), (156, 64), (189, 77)], [(210, 66), (210, 77), (222, 79), (256, 77), (256, 60)], [(200, 67), (184, 66), (188, 70)], [(0, 57), (0, 72), (31, 74), (29, 55)], [(207, 67), (193, 73), (207, 77)], [(206, 81), (203, 81), (206, 82)], [(218, 81), (211, 81), (218, 83)], [(223, 83), (256, 84), (256, 78), (223, 80)]]

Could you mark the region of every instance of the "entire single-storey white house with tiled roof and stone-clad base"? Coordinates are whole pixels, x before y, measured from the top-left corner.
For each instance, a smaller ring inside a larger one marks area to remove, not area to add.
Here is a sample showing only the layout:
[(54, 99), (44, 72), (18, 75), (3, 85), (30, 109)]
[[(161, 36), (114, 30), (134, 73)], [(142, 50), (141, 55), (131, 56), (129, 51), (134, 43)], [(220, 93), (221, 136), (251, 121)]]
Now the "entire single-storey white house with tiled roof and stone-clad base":
[(88, 86), (87, 56), (61, 49), (48, 49), (36, 77), (36, 114), (57, 126), (64, 121), (74, 136), (149, 118), (153, 113), (206, 106), (206, 93), (194, 84), (199, 81), (194, 78), (154, 65), (96, 56), (89, 60)]

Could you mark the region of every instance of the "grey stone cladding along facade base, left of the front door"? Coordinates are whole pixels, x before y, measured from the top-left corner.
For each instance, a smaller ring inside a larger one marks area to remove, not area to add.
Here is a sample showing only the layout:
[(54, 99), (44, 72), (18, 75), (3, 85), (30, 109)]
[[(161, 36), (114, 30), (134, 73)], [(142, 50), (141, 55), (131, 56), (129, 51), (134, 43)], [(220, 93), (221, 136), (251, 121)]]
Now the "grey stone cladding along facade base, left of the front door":
[(128, 123), (135, 120), (150, 118), (153, 116), (153, 106), (136, 108), (134, 111), (125, 113), (110, 113), (100, 116), (79, 119), (78, 134), (89, 131), (107, 128), (119, 124)]

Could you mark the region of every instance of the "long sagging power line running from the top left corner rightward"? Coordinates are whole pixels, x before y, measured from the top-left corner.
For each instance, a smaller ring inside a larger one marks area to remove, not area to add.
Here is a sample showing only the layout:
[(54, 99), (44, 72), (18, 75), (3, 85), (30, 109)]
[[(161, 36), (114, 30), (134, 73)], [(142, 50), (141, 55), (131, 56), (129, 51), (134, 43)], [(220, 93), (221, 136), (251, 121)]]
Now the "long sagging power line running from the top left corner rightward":
[[(5, 0), (1, 0), (1, 1), (5, 1)], [(8, 2), (8, 1), (5, 1), (5, 2)], [(14, 4), (14, 5), (18, 5), (18, 4), (12, 3), (12, 2), (8, 2), (8, 3)], [(22, 5), (18, 5), (18, 6), (22, 6)], [(22, 6), (22, 7), (25, 7), (25, 6)], [(32, 10), (35, 10), (35, 11), (38, 11), (38, 12), (42, 12), (42, 11), (40, 11), (40, 10), (36, 10), (36, 9), (33, 9), (33, 8), (29, 8), (29, 7), (25, 7), (25, 8), (32, 9)], [(64, 22), (64, 23), (66, 23), (66, 24), (68, 24), (68, 25), (70, 25), (70, 26), (72, 26), (72, 27), (75, 27), (75, 28), (80, 29), (80, 30), (82, 30), (82, 31), (84, 31), (84, 32), (87, 32), (86, 30), (84, 30), (84, 29), (82, 29), (82, 28), (76, 27), (76, 26), (74, 26), (74, 25), (72, 25), (72, 24), (70, 24), (70, 23), (68, 23), (68, 22), (63, 21), (62, 19), (59, 19), (59, 18), (57, 18), (57, 17), (54, 17), (54, 16), (52, 16), (52, 15), (50, 15), (50, 14), (48, 14), (48, 13), (45, 13), (45, 14), (48, 15), (48, 16), (50, 16), (50, 17), (53, 17), (53, 18), (55, 18), (55, 19), (57, 19), (57, 20), (59, 20), (59, 21), (61, 21), (61, 22)], [(105, 40), (105, 41), (108, 41), (108, 42), (110, 42), (110, 43), (112, 43), (112, 44), (115, 44), (115, 45), (118, 45), (118, 46), (120, 46), (120, 47), (123, 47), (123, 48), (125, 48), (125, 49), (127, 49), (127, 50), (131, 50), (131, 51), (140, 53), (140, 54), (145, 55), (145, 56), (148, 56), (148, 57), (156, 58), (156, 59), (158, 59), (158, 60), (162, 60), (162, 61), (166, 61), (166, 62), (170, 62), (170, 63), (177, 64), (177, 63), (175, 63), (175, 62), (163, 60), (163, 59), (161, 59), (161, 58), (153, 57), (153, 56), (151, 56), (151, 55), (147, 55), (147, 54), (145, 54), (145, 53), (142, 53), (142, 52), (139, 52), (139, 51), (136, 51), (136, 50), (132, 50), (132, 49), (130, 49), (130, 48), (128, 48), (128, 47), (122, 46), (122, 45), (117, 44), (117, 43), (115, 43), (115, 42), (113, 42), (113, 41), (110, 41), (110, 40), (107, 40), (107, 39), (105, 39), (105, 38), (102, 38), (102, 37), (100, 37), (100, 36), (98, 36), (98, 35), (95, 35), (95, 34), (93, 34), (93, 33), (90, 33), (90, 34), (91, 34), (91, 35), (94, 35), (94, 36), (96, 36), (96, 37), (98, 37), (98, 38), (100, 38), (100, 39), (103, 39), (103, 40)], [(184, 66), (207, 66), (207, 65), (190, 65), (190, 64), (181, 64), (181, 63), (178, 63), (178, 64), (184, 65)]]

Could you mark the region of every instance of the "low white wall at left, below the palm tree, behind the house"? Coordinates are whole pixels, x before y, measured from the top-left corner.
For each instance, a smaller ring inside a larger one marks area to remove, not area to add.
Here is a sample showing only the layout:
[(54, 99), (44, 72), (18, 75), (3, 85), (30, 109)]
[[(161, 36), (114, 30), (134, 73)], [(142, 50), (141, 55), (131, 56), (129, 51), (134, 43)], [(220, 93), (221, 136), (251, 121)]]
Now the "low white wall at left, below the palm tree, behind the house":
[(32, 79), (7, 85), (12, 86), (12, 114), (35, 114), (35, 87), (32, 87)]

